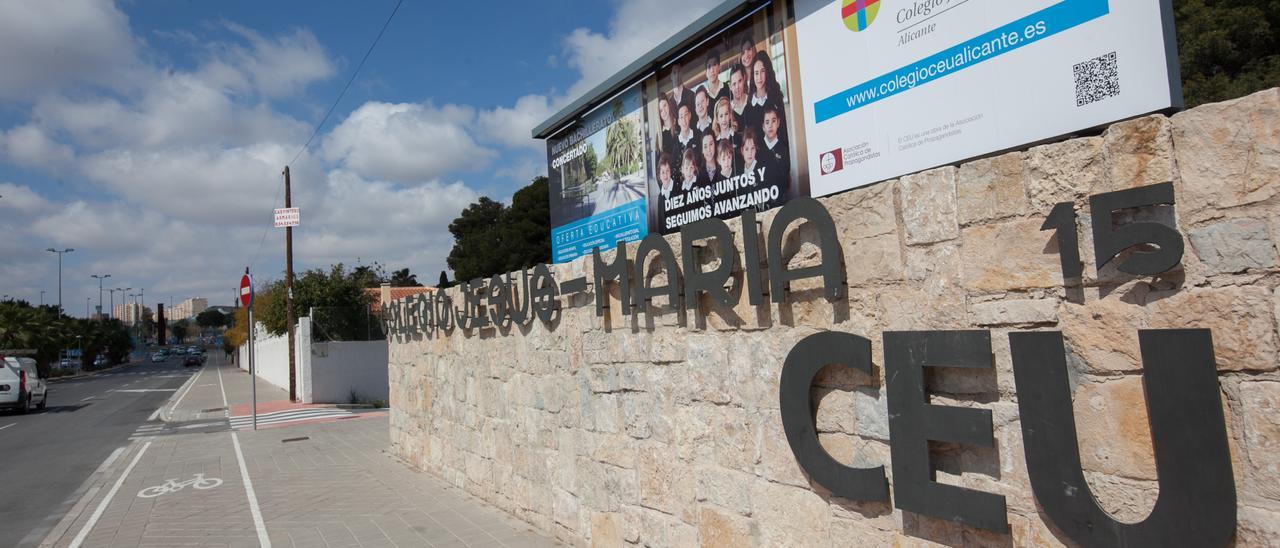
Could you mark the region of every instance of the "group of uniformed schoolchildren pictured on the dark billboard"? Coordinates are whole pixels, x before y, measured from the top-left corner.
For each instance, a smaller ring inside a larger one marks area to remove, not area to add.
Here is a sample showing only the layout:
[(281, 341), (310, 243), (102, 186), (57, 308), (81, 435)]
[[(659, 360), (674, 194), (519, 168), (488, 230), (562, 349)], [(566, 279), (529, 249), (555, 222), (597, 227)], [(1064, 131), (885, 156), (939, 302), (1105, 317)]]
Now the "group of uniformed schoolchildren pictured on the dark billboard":
[(680, 65), (659, 83), (659, 90), (666, 88), (658, 99), (655, 175), (660, 198), (699, 191), (694, 193), (723, 200), (726, 193), (772, 187), (776, 198), (754, 206), (780, 205), (790, 186), (791, 156), (786, 100), (773, 60), (758, 51), (746, 33), (724, 59), (712, 49), (703, 68), (705, 81), (692, 90)]

